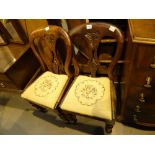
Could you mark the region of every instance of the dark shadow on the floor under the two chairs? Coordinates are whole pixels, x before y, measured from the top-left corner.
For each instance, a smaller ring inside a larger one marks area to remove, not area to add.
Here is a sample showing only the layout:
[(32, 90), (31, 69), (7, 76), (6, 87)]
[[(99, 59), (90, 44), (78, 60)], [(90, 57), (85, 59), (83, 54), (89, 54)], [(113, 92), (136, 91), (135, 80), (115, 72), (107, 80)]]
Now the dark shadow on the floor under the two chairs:
[(52, 114), (48, 113), (42, 113), (40, 111), (34, 111), (33, 115), (62, 128), (67, 127), (91, 135), (104, 135), (104, 130), (101, 126), (90, 125), (81, 122), (78, 122), (77, 124), (66, 124), (63, 122), (63, 120), (57, 119), (56, 116), (53, 116)]

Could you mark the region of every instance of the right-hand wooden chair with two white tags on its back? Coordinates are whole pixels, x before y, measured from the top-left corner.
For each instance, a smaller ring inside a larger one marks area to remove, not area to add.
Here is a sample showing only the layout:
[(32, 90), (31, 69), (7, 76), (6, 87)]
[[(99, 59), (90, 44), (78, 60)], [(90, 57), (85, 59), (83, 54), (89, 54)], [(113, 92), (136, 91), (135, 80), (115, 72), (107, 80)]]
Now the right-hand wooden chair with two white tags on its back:
[[(75, 66), (79, 68), (80, 73), (74, 79), (60, 108), (63, 111), (103, 120), (106, 132), (111, 133), (116, 109), (113, 71), (122, 53), (122, 33), (116, 26), (108, 23), (89, 23), (73, 28), (69, 34), (73, 45), (86, 55), (88, 60), (85, 64)], [(100, 63), (97, 53), (99, 43), (105, 36), (115, 38), (117, 44), (106, 67)], [(86, 75), (81, 75), (83, 71), (86, 71)]]

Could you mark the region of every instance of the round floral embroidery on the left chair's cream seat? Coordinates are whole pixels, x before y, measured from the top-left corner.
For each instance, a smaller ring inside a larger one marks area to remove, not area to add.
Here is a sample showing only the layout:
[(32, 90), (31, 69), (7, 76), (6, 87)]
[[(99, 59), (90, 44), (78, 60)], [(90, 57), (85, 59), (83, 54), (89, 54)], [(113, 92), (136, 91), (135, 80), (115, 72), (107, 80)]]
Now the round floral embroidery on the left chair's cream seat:
[(52, 75), (43, 76), (38, 79), (37, 83), (34, 85), (34, 93), (38, 97), (44, 97), (48, 94), (52, 94), (59, 82), (58, 79)]

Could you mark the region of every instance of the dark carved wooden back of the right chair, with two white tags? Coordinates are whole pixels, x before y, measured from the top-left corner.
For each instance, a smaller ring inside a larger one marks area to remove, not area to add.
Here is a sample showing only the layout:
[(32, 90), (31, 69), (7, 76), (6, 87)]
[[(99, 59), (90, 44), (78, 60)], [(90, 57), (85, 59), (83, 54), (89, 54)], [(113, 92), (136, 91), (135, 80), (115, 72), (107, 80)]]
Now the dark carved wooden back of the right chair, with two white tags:
[[(73, 28), (69, 35), (73, 45), (87, 59), (86, 64), (80, 66), (80, 71), (85, 67), (91, 76), (96, 76), (97, 73), (107, 74), (110, 79), (113, 79), (113, 70), (119, 60), (123, 47), (123, 36), (121, 31), (114, 25), (108, 23), (89, 23), (82, 24)], [(98, 47), (104, 37), (112, 37), (116, 39), (116, 50), (112, 56), (109, 66), (105, 69), (99, 62)], [(76, 66), (77, 68), (78, 66)], [(78, 70), (78, 69), (77, 69)]]

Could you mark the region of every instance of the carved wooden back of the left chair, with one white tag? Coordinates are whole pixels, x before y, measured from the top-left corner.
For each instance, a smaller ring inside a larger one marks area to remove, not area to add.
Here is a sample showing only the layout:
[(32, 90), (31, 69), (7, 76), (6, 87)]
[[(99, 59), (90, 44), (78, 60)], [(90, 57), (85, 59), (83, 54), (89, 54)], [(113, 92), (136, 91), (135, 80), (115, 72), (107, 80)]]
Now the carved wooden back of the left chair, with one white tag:
[(33, 31), (30, 35), (30, 46), (43, 71), (72, 76), (69, 71), (72, 58), (71, 41), (61, 27), (53, 25)]

